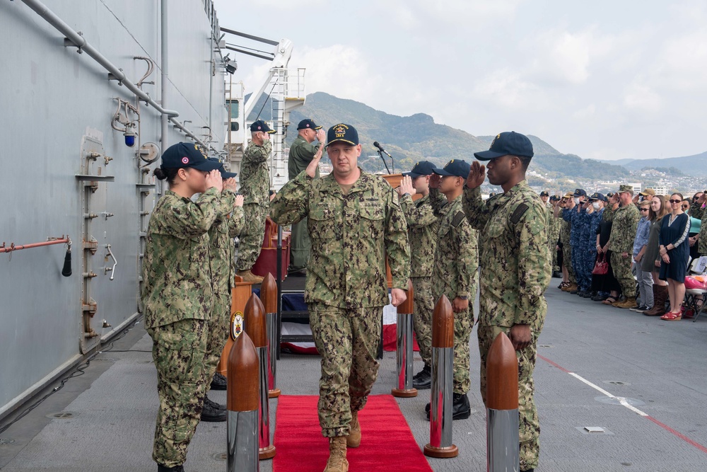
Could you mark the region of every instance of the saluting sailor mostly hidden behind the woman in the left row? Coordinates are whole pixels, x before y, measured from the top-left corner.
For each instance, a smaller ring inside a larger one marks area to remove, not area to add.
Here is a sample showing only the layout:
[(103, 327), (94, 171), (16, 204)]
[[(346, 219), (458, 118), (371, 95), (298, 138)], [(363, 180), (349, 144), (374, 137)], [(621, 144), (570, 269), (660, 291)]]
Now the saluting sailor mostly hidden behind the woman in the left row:
[[(209, 161), (216, 161), (219, 164), (218, 171), (221, 173), (224, 188), (235, 190), (235, 172), (226, 172), (223, 163), (215, 157), (210, 157)], [(206, 379), (211, 384), (211, 390), (226, 390), (228, 381), (226, 377), (216, 372), (218, 362), (221, 360), (223, 346), (226, 345), (230, 333), (230, 291), (233, 289), (235, 281), (235, 248), (233, 238), (240, 234), (243, 228), (243, 195), (235, 195), (235, 199), (230, 195), (230, 191), (224, 190), (221, 198), (224, 201), (223, 211), (214, 221), (214, 225), (209, 229), (209, 241), (211, 241), (211, 274), (214, 282), (214, 316), (211, 318), (215, 335), (211, 337), (213, 343), (209, 345), (209, 361), (207, 362), (209, 372)], [(228, 200), (226, 200), (228, 199)], [(233, 199), (233, 206), (228, 207), (228, 202)], [(226, 411), (225, 405), (218, 405), (207, 396), (204, 400), (204, 410), (206, 408), (219, 408)], [(224, 413), (225, 416), (225, 413)], [(204, 414), (201, 414), (204, 420)]]

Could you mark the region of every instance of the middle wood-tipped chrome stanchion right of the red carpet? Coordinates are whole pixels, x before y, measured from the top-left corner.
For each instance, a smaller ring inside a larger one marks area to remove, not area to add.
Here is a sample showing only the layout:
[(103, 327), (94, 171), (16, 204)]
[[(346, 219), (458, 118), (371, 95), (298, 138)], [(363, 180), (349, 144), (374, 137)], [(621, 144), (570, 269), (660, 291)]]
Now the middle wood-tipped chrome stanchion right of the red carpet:
[(424, 454), (430, 457), (456, 457), (452, 444), (452, 376), (454, 364), (454, 314), (444, 295), (432, 315), (432, 385), (430, 391), (430, 442)]

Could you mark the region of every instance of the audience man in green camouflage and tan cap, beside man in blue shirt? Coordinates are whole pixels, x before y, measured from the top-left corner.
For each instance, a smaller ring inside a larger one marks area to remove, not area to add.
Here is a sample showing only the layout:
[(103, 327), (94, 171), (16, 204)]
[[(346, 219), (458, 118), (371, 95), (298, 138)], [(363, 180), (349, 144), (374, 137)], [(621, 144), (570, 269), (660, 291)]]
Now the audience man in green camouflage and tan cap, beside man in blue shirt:
[(614, 277), (619, 281), (625, 299), (613, 303), (612, 306), (635, 308), (638, 305), (636, 304), (636, 280), (633, 279), (633, 273), (631, 273), (631, 253), (641, 212), (632, 203), (633, 187), (631, 185), (622, 184), (619, 186), (618, 193), (621, 207), (614, 212), (612, 234), (609, 236), (607, 246), (609, 246), (609, 251), (612, 251)]

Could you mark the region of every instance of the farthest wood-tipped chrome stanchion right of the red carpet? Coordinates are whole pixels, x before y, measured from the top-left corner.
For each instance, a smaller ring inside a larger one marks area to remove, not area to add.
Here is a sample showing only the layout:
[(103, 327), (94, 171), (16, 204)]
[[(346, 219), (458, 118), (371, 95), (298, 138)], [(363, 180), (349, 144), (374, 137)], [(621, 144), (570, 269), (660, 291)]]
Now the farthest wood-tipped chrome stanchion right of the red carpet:
[(397, 307), (397, 344), (395, 349), (397, 388), (392, 396), (410, 398), (417, 396), (412, 386), (412, 312), (414, 307), (412, 282), (407, 282), (407, 299)]

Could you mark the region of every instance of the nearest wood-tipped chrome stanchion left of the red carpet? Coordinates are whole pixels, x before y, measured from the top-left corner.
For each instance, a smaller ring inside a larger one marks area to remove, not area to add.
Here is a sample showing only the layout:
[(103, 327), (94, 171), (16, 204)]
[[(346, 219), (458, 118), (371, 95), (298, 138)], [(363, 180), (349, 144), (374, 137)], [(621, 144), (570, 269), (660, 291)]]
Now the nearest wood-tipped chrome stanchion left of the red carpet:
[(228, 472), (257, 472), (258, 407), (260, 379), (258, 355), (243, 326), (233, 323), (235, 338), (228, 354), (228, 386), (226, 408), (228, 419), (226, 439)]

